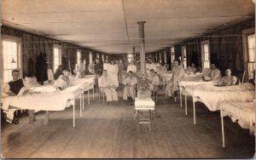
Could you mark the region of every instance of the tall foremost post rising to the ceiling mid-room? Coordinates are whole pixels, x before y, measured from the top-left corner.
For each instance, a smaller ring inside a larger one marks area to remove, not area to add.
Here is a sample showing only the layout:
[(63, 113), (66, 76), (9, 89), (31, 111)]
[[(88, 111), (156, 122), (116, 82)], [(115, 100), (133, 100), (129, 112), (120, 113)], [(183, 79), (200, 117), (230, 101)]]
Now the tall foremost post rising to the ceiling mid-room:
[(140, 60), (141, 60), (141, 74), (146, 76), (146, 64), (145, 64), (145, 34), (144, 34), (144, 24), (145, 21), (138, 21), (139, 26), (139, 40), (140, 40)]

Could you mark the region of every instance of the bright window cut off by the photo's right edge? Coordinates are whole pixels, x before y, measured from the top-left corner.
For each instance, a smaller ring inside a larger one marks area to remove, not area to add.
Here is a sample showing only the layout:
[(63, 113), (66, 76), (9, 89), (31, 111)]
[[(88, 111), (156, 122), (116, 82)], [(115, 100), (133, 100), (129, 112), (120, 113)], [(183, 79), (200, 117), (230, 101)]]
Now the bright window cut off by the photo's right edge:
[(255, 37), (254, 34), (247, 36), (247, 70), (248, 78), (253, 78), (255, 70)]

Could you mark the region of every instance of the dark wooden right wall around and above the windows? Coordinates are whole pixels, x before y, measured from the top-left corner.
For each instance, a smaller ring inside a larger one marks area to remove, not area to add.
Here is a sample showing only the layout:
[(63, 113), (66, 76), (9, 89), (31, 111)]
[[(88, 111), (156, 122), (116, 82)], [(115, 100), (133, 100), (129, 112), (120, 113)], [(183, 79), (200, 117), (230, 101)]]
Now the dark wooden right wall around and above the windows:
[(231, 68), (235, 74), (241, 74), (245, 70), (241, 31), (254, 26), (255, 20), (253, 18), (202, 37), (185, 40), (175, 45), (176, 57), (181, 55), (181, 46), (185, 45), (188, 65), (195, 62), (196, 66), (201, 66), (201, 41), (209, 40), (211, 61), (217, 63), (221, 71)]

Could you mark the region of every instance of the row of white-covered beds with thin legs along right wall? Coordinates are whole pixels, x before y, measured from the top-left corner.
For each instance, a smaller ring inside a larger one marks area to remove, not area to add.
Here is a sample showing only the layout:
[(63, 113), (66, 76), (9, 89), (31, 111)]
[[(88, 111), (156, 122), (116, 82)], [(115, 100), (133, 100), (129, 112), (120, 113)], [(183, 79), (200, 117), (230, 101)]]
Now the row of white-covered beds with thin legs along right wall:
[[(238, 123), (242, 129), (249, 129), (251, 135), (255, 134), (255, 86), (252, 83), (241, 83), (218, 87), (212, 81), (201, 80), (201, 76), (206, 73), (207, 71), (203, 71), (200, 74), (187, 75), (178, 82), (181, 107), (183, 96), (185, 99), (185, 115), (188, 115), (187, 96), (192, 97), (194, 124), (196, 101), (203, 103), (210, 111), (220, 111), (223, 147), (225, 147), (224, 117), (226, 116)], [(163, 73), (161, 76), (166, 81), (172, 79), (170, 73)]]

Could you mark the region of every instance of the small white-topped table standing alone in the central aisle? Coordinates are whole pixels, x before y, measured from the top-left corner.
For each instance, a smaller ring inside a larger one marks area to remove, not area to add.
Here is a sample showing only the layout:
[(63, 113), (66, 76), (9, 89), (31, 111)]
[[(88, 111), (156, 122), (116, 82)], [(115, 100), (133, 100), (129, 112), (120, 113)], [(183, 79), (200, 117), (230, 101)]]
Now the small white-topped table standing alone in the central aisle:
[[(154, 101), (151, 98), (140, 99), (135, 98), (135, 110), (137, 111), (138, 128), (140, 124), (149, 124), (151, 131), (151, 111), (154, 111)], [(140, 118), (140, 111), (148, 111), (148, 118)]]

